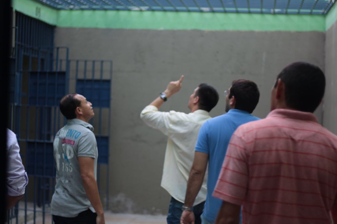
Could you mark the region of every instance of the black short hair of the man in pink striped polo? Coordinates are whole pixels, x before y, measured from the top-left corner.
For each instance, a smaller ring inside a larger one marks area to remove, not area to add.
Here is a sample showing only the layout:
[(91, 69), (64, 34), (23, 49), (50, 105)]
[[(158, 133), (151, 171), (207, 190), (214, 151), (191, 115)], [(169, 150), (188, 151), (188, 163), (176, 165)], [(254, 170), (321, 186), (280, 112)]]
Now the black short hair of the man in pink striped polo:
[(325, 75), (315, 65), (295, 62), (278, 74), (285, 86), (285, 103), (288, 107), (313, 113), (320, 104), (325, 91)]

